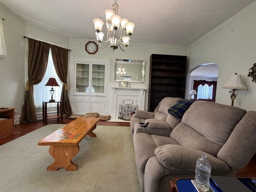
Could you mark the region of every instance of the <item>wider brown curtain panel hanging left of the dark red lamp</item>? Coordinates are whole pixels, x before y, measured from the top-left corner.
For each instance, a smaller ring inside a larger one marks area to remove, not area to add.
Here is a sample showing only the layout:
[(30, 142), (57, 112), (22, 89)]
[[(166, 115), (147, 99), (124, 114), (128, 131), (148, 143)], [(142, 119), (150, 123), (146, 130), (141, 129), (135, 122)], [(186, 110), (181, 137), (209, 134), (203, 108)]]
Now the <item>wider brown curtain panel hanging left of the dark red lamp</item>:
[(37, 122), (33, 85), (39, 84), (44, 78), (49, 50), (50, 44), (28, 38), (28, 81), (20, 123)]

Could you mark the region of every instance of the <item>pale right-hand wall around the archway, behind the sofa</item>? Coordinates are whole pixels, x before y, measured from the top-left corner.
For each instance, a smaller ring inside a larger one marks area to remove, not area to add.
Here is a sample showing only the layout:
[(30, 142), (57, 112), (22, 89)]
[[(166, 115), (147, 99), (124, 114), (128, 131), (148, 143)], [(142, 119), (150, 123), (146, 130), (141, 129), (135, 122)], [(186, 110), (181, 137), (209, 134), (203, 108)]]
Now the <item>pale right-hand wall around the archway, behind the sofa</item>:
[[(248, 77), (249, 68), (256, 63), (256, 2), (216, 27), (188, 47), (188, 70), (216, 63), (219, 68), (216, 102), (231, 105), (228, 89), (221, 86), (231, 74), (242, 75), (248, 90), (236, 91), (234, 106), (256, 110), (256, 83)], [(188, 90), (186, 90), (188, 91)]]

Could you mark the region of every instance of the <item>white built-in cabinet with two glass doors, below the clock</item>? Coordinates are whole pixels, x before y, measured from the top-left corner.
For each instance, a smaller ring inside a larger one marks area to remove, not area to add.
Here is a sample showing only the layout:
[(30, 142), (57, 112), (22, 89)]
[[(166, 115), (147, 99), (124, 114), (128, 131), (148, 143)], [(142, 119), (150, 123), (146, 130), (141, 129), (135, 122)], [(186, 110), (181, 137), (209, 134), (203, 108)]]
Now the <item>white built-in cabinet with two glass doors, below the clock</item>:
[(70, 60), (72, 113), (97, 112), (108, 115), (110, 59), (75, 58)]

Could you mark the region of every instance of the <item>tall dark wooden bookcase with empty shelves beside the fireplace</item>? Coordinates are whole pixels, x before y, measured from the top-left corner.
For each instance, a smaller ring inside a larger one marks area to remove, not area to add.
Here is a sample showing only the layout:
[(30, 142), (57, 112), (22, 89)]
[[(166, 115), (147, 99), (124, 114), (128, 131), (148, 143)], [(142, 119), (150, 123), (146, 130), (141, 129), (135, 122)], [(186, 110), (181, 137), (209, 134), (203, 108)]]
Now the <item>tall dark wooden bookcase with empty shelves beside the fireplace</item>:
[(148, 110), (154, 111), (165, 97), (185, 97), (187, 56), (150, 56)]

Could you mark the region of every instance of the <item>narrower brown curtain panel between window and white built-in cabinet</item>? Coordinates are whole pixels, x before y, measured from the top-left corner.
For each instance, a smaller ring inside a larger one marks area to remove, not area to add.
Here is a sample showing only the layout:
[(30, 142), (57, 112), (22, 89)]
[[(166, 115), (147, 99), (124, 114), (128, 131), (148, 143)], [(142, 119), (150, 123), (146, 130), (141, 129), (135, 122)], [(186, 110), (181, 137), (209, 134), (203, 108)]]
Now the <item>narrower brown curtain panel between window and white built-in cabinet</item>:
[(62, 90), (60, 100), (62, 104), (60, 105), (60, 110), (62, 112), (63, 118), (66, 118), (72, 114), (69, 98), (68, 98), (68, 86), (67, 86), (67, 76), (68, 76), (68, 49), (61, 48), (59, 46), (51, 45), (52, 60), (54, 68), (60, 81), (62, 82)]

